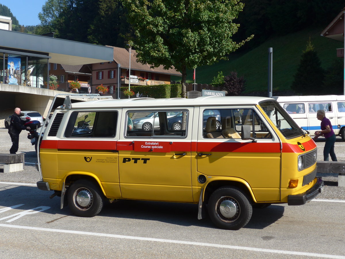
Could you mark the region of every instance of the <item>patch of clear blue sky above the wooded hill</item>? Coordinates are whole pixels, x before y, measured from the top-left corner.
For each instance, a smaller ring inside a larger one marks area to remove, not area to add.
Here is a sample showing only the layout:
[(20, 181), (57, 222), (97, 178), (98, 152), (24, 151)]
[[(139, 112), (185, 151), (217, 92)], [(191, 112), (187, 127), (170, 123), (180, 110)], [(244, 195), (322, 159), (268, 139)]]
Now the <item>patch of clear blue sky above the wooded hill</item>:
[(42, 6), (47, 0), (0, 0), (3, 6), (7, 6), (15, 16), (20, 25), (39, 25), (38, 13), (42, 11)]

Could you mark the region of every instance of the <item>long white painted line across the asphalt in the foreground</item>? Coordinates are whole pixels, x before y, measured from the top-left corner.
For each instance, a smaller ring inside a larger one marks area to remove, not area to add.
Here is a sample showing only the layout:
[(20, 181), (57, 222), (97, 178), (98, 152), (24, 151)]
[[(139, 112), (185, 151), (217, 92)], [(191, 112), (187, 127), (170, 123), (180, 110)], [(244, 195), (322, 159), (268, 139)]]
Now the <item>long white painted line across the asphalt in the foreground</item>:
[(36, 228), (36, 227), (17, 226), (17, 225), (8, 225), (8, 224), (0, 224), (0, 227), (30, 229), (30, 230), (39, 230), (39, 231), (50, 231), (50, 232), (59, 232), (59, 233), (70, 233), (70, 234), (80, 234), (80, 235), (98, 236), (98, 237), (110, 237), (110, 238), (119, 238), (119, 239), (132, 239), (132, 240), (141, 240), (141, 241), (187, 244), (187, 245), (192, 245), (192, 246), (228, 248), (228, 249), (236, 249), (236, 250), (255, 251), (255, 252), (280, 253), (280, 254), (285, 254), (285, 255), (299, 255), (299, 256), (311, 256), (311, 257), (321, 257), (321, 258), (345, 259), (345, 256), (326, 255), (326, 254), (322, 254), (322, 253), (308, 253), (308, 252), (285, 251), (285, 250), (264, 249), (264, 248), (255, 248), (255, 247), (229, 246), (226, 244), (212, 244), (212, 243), (190, 242), (190, 241), (160, 239), (160, 238), (122, 236), (122, 235), (106, 234), (106, 233), (93, 233), (93, 232), (85, 232), (85, 231), (51, 229), (51, 228)]

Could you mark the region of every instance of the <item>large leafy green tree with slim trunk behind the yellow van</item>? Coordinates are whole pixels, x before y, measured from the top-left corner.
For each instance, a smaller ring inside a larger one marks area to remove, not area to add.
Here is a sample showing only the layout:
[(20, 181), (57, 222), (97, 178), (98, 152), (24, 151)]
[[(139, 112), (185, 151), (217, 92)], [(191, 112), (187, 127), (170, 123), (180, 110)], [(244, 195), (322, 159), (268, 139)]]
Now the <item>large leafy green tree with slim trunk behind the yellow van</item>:
[(135, 37), (129, 44), (138, 61), (152, 67), (172, 66), (182, 73), (186, 97), (187, 69), (212, 65), (242, 46), (232, 36), (239, 25), (232, 22), (243, 9), (237, 0), (121, 0)]

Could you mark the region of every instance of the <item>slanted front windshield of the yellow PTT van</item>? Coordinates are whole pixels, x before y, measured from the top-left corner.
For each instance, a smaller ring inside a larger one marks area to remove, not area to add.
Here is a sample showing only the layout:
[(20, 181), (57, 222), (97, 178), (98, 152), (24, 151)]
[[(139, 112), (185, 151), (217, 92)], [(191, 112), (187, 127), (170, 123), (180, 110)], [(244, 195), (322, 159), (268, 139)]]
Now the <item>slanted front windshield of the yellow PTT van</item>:
[(307, 134), (276, 101), (264, 101), (259, 105), (285, 138), (290, 139)]

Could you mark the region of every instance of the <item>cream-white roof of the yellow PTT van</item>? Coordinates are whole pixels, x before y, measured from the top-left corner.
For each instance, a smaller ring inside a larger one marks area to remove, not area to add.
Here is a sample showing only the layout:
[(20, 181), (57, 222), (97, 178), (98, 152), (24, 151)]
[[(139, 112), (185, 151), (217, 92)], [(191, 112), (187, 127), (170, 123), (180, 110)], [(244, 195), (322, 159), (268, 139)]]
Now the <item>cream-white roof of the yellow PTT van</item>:
[[(103, 99), (87, 102), (72, 103), (71, 108), (109, 108), (109, 107), (174, 107), (174, 106), (203, 106), (203, 105), (243, 105), (258, 104), (263, 100), (274, 100), (268, 97), (256, 96), (203, 96), (193, 99), (186, 98), (130, 98)], [(59, 108), (62, 108), (60, 106)]]

